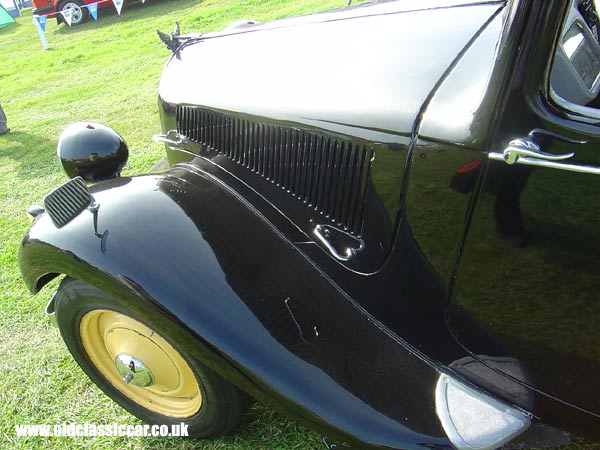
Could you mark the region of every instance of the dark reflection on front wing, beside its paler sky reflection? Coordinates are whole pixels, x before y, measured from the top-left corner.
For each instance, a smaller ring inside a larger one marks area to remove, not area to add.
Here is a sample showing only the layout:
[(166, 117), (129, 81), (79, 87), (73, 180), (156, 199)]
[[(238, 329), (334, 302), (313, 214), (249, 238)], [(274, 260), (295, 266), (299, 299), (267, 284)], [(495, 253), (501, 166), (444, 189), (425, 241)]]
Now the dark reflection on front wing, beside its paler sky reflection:
[[(406, 359), (402, 345), (365, 320), (309, 266), (276, 250), (278, 243), (272, 236), (248, 229), (249, 222), (239, 211), (232, 215), (235, 208), (227, 208), (229, 200), (214, 185), (181, 170), (178, 175), (193, 178), (193, 183), (168, 177), (159, 181), (160, 190), (193, 221), (227, 283), (279, 344), (391, 419), (408, 425), (404, 411), (422, 411), (422, 416), (411, 418), (410, 427), (429, 436), (443, 436), (428, 411), (434, 407), (433, 397), (422, 395), (433, 392), (435, 370), (405, 380), (406, 371), (421, 370), (422, 362)], [(231, 226), (234, 220), (246, 226)], [(249, 238), (260, 245), (239, 245)], [(265, 252), (269, 258), (264, 258)], [(401, 379), (405, 381), (398, 383)]]

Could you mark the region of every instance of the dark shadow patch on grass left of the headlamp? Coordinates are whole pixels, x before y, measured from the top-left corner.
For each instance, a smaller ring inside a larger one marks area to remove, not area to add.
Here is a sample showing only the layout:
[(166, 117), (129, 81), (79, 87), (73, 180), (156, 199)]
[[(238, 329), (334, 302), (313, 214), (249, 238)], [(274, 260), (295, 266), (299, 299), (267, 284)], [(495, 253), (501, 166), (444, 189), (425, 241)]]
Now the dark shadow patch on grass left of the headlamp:
[(42, 139), (40, 136), (11, 130), (0, 137), (0, 157), (12, 159), (19, 163), (15, 178), (39, 178), (50, 165), (55, 164), (56, 141)]

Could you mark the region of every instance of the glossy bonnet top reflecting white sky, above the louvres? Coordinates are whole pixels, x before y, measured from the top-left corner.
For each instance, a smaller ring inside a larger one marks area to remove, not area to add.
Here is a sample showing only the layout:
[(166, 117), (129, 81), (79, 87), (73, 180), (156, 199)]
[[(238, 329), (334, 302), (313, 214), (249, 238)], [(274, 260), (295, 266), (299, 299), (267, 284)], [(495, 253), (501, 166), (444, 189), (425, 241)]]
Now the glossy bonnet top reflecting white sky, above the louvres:
[[(159, 95), (167, 103), (393, 142), (411, 134), (437, 81), (499, 8), (401, 10), (215, 36), (176, 52)], [(225, 95), (215, 84), (228, 86)]]

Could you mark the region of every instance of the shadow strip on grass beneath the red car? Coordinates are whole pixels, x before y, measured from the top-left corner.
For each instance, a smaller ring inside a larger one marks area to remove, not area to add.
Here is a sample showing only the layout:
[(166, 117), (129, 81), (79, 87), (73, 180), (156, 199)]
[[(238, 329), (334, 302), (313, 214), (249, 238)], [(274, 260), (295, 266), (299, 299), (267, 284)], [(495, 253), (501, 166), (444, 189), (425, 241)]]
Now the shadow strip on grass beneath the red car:
[(125, 3), (120, 15), (117, 14), (115, 7), (110, 5), (98, 9), (98, 20), (95, 21), (90, 17), (86, 23), (72, 27), (61, 24), (58, 25), (58, 29), (55, 33), (62, 35), (76, 35), (80, 32), (89, 30), (90, 28), (105, 28), (116, 22), (139, 20), (157, 14), (169, 14), (183, 6), (189, 6), (196, 3), (198, 2), (194, 0), (146, 0), (145, 3), (135, 1), (133, 3)]

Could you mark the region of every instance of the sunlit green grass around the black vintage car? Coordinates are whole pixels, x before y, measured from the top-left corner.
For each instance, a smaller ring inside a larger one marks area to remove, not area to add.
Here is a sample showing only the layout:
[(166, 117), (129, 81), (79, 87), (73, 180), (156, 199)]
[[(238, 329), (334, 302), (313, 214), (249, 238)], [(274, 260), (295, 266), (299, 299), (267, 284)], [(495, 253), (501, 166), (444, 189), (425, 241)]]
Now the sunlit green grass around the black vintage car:
[(16, 424), (140, 423), (105, 397), (74, 362), (43, 316), (52, 287), (32, 297), (16, 253), (25, 208), (66, 180), (56, 161), (60, 131), (78, 120), (114, 127), (126, 139), (126, 174), (143, 173), (163, 155), (157, 84), (169, 51), (156, 29), (223, 28), (239, 18), (260, 21), (342, 6), (344, 0), (147, 0), (100, 11), (80, 27), (49, 20), (43, 50), (25, 10), (0, 29), (0, 103), (11, 132), (0, 136), (0, 448), (312, 449), (320, 436), (263, 405), (234, 434), (215, 440), (166, 438), (17, 438)]

